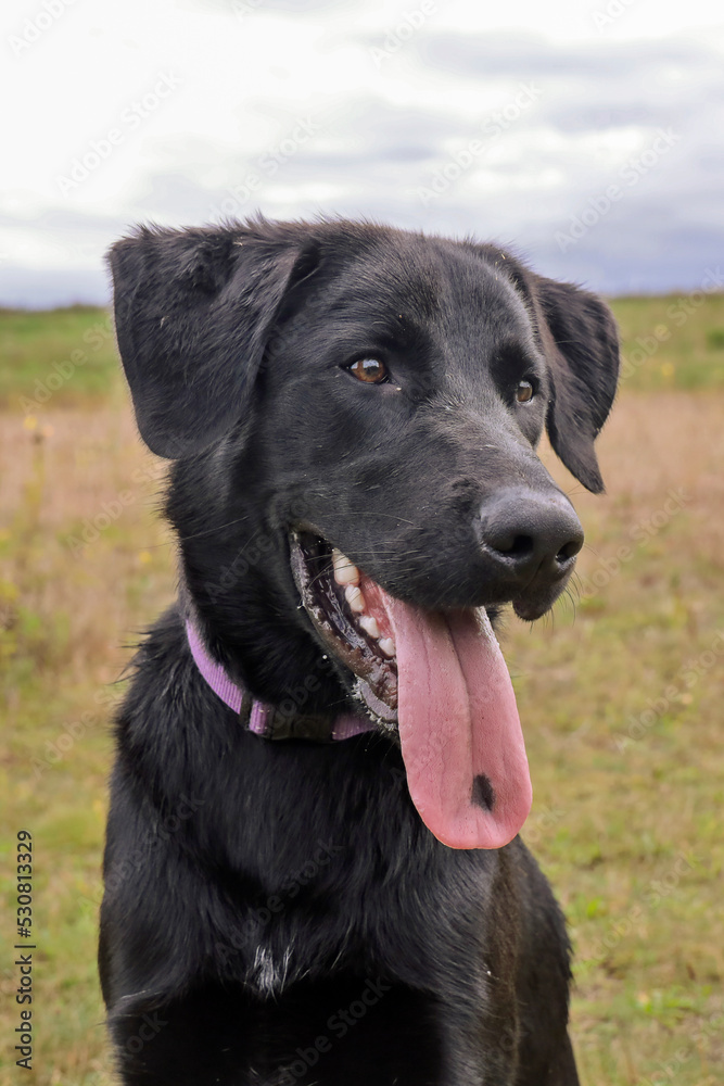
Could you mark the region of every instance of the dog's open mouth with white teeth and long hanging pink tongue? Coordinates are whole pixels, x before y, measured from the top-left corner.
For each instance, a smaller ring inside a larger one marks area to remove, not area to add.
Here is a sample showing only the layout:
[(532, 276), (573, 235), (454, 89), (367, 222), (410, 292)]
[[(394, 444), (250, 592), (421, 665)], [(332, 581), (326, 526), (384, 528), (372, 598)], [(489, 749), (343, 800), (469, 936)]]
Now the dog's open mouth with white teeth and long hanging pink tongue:
[(293, 532), (292, 572), (315, 631), (398, 735), (410, 796), (454, 848), (499, 848), (531, 780), (516, 697), (484, 608), (431, 611), (390, 595), (321, 536)]

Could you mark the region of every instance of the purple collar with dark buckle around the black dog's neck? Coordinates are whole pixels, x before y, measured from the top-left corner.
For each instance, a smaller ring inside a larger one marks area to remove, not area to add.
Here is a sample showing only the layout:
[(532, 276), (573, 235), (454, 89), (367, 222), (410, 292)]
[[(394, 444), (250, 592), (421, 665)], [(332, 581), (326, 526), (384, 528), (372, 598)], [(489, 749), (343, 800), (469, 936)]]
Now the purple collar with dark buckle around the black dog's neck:
[(201, 635), (190, 618), (186, 620), (186, 635), (189, 648), (201, 674), (218, 697), (230, 709), (239, 715), (244, 727), (268, 740), (305, 738), (329, 743), (335, 740), (348, 740), (363, 732), (371, 732), (374, 724), (367, 716), (357, 712), (344, 712), (330, 722), (328, 717), (303, 716), (292, 707), (284, 711), (274, 705), (256, 702), (243, 689), (237, 685), (224, 667), (212, 659), (201, 640)]

